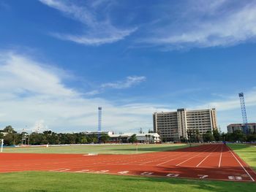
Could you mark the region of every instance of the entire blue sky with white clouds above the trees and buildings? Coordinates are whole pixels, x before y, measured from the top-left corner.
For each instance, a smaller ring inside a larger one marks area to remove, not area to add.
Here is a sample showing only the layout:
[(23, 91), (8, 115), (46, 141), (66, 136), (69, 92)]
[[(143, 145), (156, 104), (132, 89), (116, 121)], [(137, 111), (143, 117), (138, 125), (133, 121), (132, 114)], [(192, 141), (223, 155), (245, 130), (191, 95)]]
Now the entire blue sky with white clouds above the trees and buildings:
[(256, 1), (0, 0), (0, 129), (153, 129), (154, 112), (256, 121)]

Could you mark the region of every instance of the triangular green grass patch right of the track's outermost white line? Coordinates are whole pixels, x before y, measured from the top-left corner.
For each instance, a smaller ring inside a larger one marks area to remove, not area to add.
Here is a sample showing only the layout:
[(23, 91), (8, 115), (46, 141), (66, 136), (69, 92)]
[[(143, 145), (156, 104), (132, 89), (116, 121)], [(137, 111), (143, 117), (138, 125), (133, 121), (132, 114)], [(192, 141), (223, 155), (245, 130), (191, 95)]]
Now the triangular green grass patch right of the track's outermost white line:
[(256, 145), (228, 144), (228, 146), (256, 171)]

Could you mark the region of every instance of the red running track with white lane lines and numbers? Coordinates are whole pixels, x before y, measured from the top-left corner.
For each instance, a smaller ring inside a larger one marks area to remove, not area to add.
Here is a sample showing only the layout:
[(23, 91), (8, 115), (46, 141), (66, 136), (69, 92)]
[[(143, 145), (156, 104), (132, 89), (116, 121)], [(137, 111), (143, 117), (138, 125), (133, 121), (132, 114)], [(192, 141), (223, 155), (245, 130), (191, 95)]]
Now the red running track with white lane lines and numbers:
[(256, 173), (229, 147), (200, 145), (134, 155), (1, 153), (0, 172), (50, 171), (255, 182)]

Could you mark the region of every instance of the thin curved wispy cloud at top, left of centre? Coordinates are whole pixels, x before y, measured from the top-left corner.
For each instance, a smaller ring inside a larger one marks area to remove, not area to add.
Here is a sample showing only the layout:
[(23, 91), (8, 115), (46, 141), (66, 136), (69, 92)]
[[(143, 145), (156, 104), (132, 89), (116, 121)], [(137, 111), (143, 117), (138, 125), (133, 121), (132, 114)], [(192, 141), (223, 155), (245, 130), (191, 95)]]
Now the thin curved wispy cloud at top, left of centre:
[[(85, 4), (79, 6), (72, 1), (39, 1), (49, 7), (58, 9), (70, 18), (80, 21), (86, 28), (86, 34), (51, 33), (59, 39), (69, 40), (83, 45), (102, 45), (118, 42), (137, 30), (136, 27), (121, 29), (113, 26), (108, 15), (104, 11), (100, 12), (97, 9), (100, 4), (108, 4), (109, 1), (95, 1), (90, 7), (86, 7)], [(99, 12), (101, 13), (101, 19), (98, 17)]]

